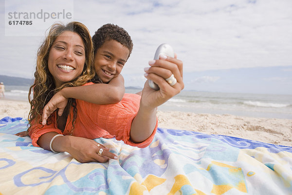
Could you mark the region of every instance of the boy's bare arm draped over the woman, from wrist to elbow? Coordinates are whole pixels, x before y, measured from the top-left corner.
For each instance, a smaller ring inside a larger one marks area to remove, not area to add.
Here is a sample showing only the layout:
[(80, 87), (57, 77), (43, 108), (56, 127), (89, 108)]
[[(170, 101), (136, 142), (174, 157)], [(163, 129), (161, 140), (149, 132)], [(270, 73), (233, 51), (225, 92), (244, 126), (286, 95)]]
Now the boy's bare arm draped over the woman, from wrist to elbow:
[(108, 84), (66, 87), (60, 92), (65, 98), (81, 99), (94, 104), (117, 103), (122, 100), (125, 94), (124, 78), (122, 75), (118, 75)]

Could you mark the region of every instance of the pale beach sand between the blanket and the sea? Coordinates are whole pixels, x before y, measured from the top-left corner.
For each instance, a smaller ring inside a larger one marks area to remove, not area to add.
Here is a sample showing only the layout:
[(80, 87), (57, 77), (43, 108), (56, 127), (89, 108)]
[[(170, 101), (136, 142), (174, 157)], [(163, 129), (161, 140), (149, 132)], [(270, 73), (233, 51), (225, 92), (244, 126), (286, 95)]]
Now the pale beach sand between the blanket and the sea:
[[(26, 101), (0, 99), (0, 119), (28, 117)], [(292, 147), (292, 119), (157, 111), (159, 127), (226, 135)]]

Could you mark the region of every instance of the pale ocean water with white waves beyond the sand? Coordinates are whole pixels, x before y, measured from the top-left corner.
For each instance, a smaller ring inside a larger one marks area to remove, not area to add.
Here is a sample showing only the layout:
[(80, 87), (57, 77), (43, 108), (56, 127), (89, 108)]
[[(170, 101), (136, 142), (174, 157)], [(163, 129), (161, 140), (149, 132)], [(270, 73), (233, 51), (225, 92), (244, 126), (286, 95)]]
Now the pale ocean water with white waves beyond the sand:
[[(28, 91), (29, 86), (5, 86), (5, 98), (27, 101)], [(126, 89), (126, 93), (138, 91), (140, 90)], [(183, 90), (159, 106), (158, 110), (292, 119), (292, 95)]]

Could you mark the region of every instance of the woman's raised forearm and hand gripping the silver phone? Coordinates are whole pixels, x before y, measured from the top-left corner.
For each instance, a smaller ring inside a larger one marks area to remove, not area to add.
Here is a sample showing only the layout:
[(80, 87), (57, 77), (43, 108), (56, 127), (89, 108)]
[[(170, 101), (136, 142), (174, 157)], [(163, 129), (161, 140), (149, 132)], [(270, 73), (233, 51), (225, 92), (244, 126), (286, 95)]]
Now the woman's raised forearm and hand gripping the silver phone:
[[(151, 89), (148, 80), (144, 85), (139, 111), (132, 121), (130, 131), (130, 139), (137, 143), (146, 140), (153, 133), (157, 121), (156, 108), (184, 88), (182, 61), (161, 56), (159, 60), (149, 61), (149, 65), (151, 67), (146, 70), (145, 77), (157, 83), (160, 89), (158, 91)], [(165, 80), (171, 74), (177, 79), (177, 83), (173, 86)]]

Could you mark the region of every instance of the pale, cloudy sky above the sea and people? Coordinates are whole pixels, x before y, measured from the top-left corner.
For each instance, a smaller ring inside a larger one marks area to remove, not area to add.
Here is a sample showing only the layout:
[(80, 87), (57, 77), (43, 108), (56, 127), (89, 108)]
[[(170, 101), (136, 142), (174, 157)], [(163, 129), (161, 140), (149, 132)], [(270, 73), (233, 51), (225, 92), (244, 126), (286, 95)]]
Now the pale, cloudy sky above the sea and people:
[[(106, 23), (128, 31), (134, 47), (122, 71), (125, 86), (143, 87), (144, 68), (168, 43), (183, 61), (184, 90), (292, 94), (292, 0), (0, 2), (0, 75), (33, 78), (47, 29), (74, 20), (91, 35)], [(25, 12), (41, 13), (25, 19), (31, 25), (9, 25)]]

